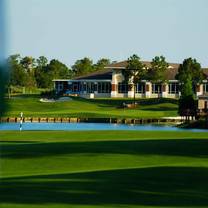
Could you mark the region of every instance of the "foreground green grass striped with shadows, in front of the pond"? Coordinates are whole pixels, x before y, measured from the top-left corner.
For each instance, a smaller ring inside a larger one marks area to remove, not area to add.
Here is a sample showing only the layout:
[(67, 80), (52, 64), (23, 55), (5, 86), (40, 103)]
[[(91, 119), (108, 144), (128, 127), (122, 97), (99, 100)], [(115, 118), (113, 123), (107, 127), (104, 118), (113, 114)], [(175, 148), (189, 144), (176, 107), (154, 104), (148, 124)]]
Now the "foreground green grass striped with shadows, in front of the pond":
[(208, 133), (1, 131), (2, 208), (208, 207)]

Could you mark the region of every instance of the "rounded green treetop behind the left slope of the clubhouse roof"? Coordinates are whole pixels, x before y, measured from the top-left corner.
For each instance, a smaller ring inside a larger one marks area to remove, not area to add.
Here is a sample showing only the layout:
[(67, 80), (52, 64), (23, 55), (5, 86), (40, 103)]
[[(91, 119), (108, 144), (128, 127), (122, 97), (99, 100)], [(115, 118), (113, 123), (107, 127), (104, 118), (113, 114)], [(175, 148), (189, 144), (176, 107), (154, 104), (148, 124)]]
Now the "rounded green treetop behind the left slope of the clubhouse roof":
[(88, 74), (90, 72), (93, 72), (94, 70), (95, 67), (93, 65), (93, 61), (89, 58), (77, 60), (75, 64), (72, 66), (72, 71), (75, 77)]

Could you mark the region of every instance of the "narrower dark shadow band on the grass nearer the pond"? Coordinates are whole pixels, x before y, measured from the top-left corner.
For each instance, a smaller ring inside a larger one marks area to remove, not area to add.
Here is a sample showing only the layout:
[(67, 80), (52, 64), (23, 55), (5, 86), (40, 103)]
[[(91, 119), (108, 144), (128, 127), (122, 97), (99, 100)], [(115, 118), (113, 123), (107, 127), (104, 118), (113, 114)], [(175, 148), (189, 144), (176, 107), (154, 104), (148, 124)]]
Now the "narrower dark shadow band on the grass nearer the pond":
[(62, 154), (133, 154), (208, 157), (205, 139), (93, 141), (54, 143), (0, 142), (1, 158), (38, 158)]

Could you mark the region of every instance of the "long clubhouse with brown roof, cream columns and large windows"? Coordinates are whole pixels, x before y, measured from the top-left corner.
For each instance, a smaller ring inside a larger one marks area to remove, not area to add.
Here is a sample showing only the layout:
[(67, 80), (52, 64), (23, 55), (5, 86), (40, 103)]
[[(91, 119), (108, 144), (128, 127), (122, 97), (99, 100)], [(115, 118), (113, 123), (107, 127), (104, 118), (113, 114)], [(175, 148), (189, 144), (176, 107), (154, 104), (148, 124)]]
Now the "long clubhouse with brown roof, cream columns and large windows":
[[(150, 62), (143, 62), (150, 67)], [(134, 89), (131, 84), (124, 82), (123, 70), (126, 70), (127, 61), (110, 64), (105, 69), (91, 74), (77, 77), (74, 80), (57, 79), (54, 81), (56, 93), (80, 96), (83, 98), (132, 98)], [(137, 98), (179, 98), (180, 83), (175, 76), (179, 64), (169, 64), (166, 71), (166, 83), (151, 83), (142, 80), (136, 85)], [(195, 90), (197, 96), (208, 94), (208, 69), (203, 69), (205, 80)]]

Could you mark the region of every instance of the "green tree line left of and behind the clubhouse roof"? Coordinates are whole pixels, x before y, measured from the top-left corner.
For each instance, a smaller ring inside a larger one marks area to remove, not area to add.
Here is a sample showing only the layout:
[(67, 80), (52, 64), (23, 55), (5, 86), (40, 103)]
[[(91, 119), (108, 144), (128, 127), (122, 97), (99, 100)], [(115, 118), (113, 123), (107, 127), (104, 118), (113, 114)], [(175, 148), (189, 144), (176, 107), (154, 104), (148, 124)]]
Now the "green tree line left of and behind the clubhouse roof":
[(45, 56), (35, 59), (14, 54), (8, 57), (7, 63), (10, 69), (9, 86), (48, 89), (53, 87), (53, 79), (72, 79), (101, 70), (110, 64), (110, 60), (102, 58), (94, 64), (91, 59), (83, 58), (70, 68), (57, 59), (48, 61)]

